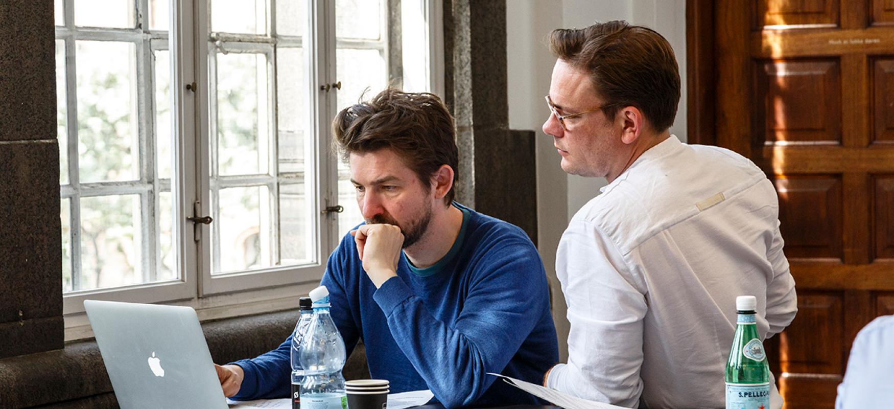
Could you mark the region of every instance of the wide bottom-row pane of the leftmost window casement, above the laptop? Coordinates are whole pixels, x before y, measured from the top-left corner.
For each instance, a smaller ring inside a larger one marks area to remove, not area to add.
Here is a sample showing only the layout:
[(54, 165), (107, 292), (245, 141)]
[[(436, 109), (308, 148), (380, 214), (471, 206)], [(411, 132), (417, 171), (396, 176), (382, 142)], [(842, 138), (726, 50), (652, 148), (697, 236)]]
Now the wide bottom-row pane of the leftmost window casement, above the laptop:
[(147, 281), (142, 268), (139, 195), (80, 200), (80, 282), (85, 290)]

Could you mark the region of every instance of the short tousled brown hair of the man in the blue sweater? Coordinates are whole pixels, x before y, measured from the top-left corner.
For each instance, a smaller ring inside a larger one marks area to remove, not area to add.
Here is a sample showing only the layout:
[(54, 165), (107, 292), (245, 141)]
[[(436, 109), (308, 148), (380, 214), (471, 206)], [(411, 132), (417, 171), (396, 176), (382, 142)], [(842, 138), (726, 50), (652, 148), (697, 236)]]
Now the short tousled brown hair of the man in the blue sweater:
[(342, 109), (333, 133), (345, 162), (352, 153), (393, 149), (424, 186), (442, 166), (453, 169), (453, 186), (444, 200), (450, 204), (460, 181), (460, 153), (453, 117), (441, 98), (427, 92), (385, 89), (374, 98)]

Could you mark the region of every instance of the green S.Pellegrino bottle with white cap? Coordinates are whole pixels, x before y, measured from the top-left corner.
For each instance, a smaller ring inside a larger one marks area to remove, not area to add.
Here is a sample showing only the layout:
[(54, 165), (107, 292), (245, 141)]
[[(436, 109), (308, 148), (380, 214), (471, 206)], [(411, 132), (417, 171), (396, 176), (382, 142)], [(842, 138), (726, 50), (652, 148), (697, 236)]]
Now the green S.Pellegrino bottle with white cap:
[(727, 409), (770, 408), (770, 365), (757, 334), (754, 295), (736, 297), (738, 320), (727, 361)]

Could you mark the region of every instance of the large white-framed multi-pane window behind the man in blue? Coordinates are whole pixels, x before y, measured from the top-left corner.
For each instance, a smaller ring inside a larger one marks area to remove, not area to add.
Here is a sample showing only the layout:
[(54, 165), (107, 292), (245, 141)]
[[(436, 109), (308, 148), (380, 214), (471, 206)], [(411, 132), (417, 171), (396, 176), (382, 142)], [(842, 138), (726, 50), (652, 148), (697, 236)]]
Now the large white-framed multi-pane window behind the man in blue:
[(439, 3), (55, 0), (66, 339), (86, 298), (293, 306), (362, 220), (331, 120), (443, 88)]

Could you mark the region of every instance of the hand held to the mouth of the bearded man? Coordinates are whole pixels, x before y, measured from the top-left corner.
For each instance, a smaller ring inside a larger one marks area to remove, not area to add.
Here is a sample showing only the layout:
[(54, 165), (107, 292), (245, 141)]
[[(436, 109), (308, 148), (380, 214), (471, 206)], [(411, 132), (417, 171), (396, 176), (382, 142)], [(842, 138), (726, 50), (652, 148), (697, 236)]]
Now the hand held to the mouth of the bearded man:
[(363, 269), (378, 288), (397, 276), (397, 263), (401, 260), (403, 234), (401, 227), (393, 225), (363, 225), (351, 230)]

